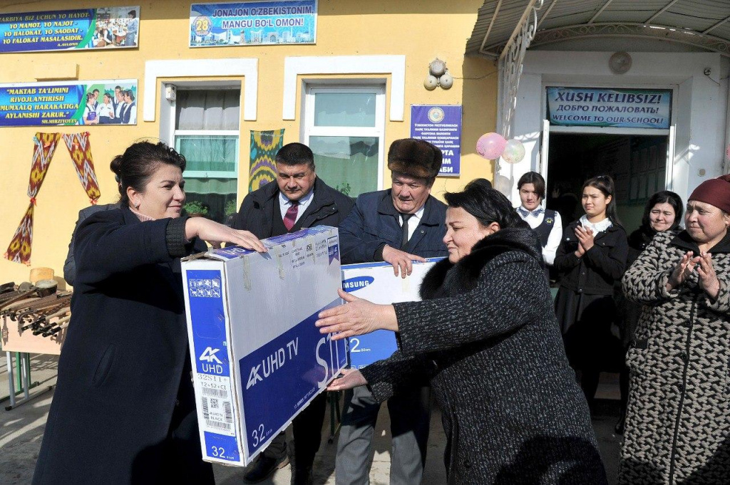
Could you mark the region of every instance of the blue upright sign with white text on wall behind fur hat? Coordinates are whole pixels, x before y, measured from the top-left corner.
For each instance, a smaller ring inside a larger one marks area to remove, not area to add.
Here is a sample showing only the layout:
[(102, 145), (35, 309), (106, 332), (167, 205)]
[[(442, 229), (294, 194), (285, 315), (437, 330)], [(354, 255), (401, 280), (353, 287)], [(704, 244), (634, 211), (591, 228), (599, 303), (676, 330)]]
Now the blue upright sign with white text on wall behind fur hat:
[(411, 105), (411, 137), (441, 149), (439, 176), (461, 175), (461, 105)]

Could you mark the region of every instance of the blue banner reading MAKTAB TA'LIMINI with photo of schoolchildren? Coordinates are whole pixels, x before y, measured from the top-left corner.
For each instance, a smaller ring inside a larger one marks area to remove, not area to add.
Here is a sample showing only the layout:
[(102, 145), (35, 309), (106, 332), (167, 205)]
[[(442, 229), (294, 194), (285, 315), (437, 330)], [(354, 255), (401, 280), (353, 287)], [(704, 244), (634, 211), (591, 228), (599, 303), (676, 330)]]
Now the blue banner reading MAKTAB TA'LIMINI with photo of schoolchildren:
[(137, 125), (137, 79), (0, 84), (0, 127)]

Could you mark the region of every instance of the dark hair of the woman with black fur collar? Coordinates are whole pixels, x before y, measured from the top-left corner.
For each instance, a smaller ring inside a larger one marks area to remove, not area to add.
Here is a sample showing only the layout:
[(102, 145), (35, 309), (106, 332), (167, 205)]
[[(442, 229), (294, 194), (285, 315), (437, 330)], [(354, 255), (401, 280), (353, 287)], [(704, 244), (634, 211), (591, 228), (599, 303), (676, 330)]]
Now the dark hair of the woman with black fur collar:
[(476, 217), (484, 227), (492, 222), (499, 228), (529, 228), (515, 208), (499, 190), (487, 187), (484, 179), (472, 180), (461, 192), (447, 192), (444, 198), (449, 207), (461, 207)]

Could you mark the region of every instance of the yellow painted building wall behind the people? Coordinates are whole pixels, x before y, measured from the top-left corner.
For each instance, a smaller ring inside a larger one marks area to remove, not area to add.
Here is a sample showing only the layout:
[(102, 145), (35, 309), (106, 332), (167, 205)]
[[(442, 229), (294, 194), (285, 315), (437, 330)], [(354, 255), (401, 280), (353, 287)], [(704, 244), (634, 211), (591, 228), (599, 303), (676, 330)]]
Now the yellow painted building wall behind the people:
[[(190, 4), (177, 0), (131, 2), (140, 4), (139, 47), (133, 49), (74, 50), (45, 53), (0, 54), (0, 82), (37, 82), (48, 72), (69, 72), (78, 66), (78, 80), (137, 79), (137, 125), (91, 125), (58, 127), (0, 128), (0, 252), (4, 252), (28, 207), (28, 174), (33, 153), (32, 138), (37, 131), (91, 133), (91, 149), (101, 188), (99, 203), (112, 203), (118, 190), (109, 163), (135, 140), (161, 136), (157, 116), (145, 122), (145, 61), (168, 59), (258, 58), (258, 109), (255, 121), (243, 120), (241, 131), (240, 203), (247, 191), (248, 140), (250, 130), (285, 128), (285, 143), (299, 141), (301, 93), (297, 93), (296, 120), (282, 120), (284, 61), (289, 56), (405, 55), (404, 120), (388, 119), (386, 108), (385, 152), (391, 141), (410, 136), (411, 104), (462, 104), (461, 176), (438, 177), (433, 193), (441, 197), (447, 190), (459, 190), (476, 178), (493, 178), (493, 165), (475, 152), (482, 133), (493, 131), (496, 120), (496, 66), (483, 58), (465, 58), (466, 40), (472, 34), (481, 0), (444, 2), (441, 0), (320, 0), (317, 44), (241, 47), (188, 47)], [(94, 1), (40, 1), (3, 7), (0, 14), (52, 11), (93, 7), (113, 7)], [(453, 88), (423, 88), (429, 62), (440, 58), (454, 77)], [(71, 66), (69, 68), (69, 66)], [(42, 74), (39, 74), (42, 73)], [(201, 72), (200, 78), (210, 79)], [(356, 74), (307, 77), (361, 78)], [(382, 77), (382, 76), (380, 76)], [(226, 78), (230, 79), (230, 78)], [(240, 79), (243, 82), (243, 78)], [(159, 83), (157, 83), (159, 84)], [(243, 90), (243, 87), (242, 87)], [(387, 106), (391, 79), (388, 79)], [(388, 186), (389, 174), (385, 174)], [(47, 266), (63, 276), (69, 239), (80, 209), (89, 201), (77, 179), (68, 150), (61, 141), (50, 163), (45, 182), (37, 196), (33, 228), (32, 267)], [(29, 268), (0, 259), (0, 283), (28, 279)]]

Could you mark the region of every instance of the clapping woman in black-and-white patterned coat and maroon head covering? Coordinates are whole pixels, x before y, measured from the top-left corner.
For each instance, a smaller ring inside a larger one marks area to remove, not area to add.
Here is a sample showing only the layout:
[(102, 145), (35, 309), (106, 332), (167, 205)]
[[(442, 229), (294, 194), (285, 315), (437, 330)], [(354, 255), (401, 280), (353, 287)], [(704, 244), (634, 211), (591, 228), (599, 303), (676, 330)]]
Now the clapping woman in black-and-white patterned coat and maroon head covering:
[(685, 225), (623, 277), (645, 306), (626, 357), (619, 484), (730, 483), (730, 175), (694, 190)]

